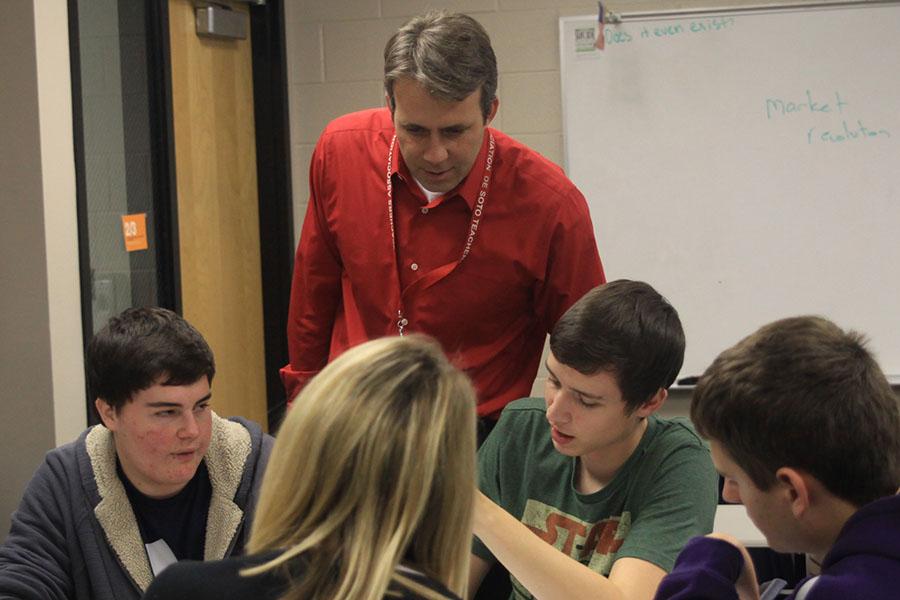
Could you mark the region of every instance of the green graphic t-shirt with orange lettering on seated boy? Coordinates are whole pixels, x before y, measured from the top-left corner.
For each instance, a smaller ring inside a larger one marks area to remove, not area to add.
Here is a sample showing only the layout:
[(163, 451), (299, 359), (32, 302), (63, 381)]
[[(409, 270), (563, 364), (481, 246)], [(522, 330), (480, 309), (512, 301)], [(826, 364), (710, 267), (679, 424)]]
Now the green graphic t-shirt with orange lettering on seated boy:
[[(600, 491), (575, 489), (577, 459), (556, 451), (544, 400), (509, 404), (478, 452), (479, 486), (538, 537), (602, 575), (623, 557), (671, 571), (687, 541), (712, 531), (718, 479), (686, 419), (648, 419), (637, 449)], [(476, 538), (473, 552), (493, 562)], [(512, 579), (512, 598), (531, 594)]]

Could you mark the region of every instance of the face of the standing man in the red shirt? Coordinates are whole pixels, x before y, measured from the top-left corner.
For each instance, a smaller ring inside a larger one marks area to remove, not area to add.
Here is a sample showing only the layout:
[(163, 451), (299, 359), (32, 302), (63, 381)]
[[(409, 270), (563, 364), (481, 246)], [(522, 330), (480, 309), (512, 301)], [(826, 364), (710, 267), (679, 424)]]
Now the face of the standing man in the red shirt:
[(475, 163), (484, 129), (494, 118), (494, 99), (485, 121), (481, 90), (464, 100), (439, 100), (412, 79), (394, 83), (394, 128), (403, 160), (425, 189), (446, 193), (461, 182)]

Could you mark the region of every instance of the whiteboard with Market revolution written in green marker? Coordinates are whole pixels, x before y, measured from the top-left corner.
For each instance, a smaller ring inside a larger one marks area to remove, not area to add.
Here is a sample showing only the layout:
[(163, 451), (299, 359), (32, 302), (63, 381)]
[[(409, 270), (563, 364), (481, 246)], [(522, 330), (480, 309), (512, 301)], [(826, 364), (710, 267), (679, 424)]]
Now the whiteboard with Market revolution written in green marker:
[(679, 311), (682, 376), (821, 314), (900, 373), (900, 7), (560, 19), (566, 169), (607, 278)]

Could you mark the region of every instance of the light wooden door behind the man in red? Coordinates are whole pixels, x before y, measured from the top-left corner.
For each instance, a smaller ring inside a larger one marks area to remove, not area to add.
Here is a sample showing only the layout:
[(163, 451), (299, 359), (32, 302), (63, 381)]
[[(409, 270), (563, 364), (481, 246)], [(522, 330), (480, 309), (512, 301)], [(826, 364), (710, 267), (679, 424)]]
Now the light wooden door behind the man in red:
[(248, 37), (196, 34), (191, 0), (169, 0), (184, 317), (216, 357), (213, 407), (266, 428), (262, 278)]

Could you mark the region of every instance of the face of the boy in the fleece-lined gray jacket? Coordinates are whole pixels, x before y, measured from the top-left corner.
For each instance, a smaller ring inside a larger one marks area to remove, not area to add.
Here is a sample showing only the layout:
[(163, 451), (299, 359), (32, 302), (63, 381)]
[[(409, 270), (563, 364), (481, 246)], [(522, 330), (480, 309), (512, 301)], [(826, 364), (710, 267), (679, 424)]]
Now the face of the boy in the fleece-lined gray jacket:
[(137, 392), (116, 413), (103, 400), (97, 410), (113, 432), (129, 481), (151, 498), (174, 496), (191, 480), (212, 433), (209, 380), (161, 385)]

